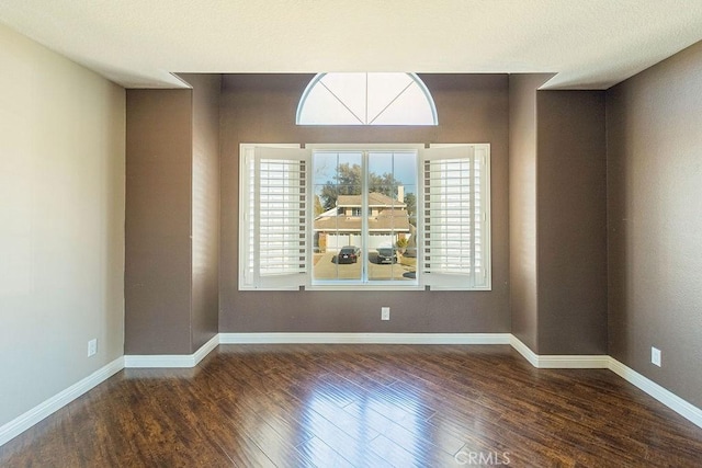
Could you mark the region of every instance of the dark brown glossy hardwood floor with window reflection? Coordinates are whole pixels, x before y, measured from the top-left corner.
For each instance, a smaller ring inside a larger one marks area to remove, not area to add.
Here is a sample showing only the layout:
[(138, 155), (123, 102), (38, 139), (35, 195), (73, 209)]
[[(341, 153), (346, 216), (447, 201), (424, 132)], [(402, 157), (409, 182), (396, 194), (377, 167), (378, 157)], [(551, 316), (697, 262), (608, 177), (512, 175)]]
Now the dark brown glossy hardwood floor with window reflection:
[(2, 467), (700, 467), (702, 430), (609, 370), (511, 347), (220, 345), (125, 369)]

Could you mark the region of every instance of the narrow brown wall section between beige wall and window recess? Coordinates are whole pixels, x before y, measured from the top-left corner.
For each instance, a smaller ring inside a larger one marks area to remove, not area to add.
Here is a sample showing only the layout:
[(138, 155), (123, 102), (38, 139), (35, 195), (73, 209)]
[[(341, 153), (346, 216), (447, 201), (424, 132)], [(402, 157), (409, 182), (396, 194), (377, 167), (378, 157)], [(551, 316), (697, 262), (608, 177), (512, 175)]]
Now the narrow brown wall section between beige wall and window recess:
[(190, 354), (190, 90), (127, 90), (125, 354)]

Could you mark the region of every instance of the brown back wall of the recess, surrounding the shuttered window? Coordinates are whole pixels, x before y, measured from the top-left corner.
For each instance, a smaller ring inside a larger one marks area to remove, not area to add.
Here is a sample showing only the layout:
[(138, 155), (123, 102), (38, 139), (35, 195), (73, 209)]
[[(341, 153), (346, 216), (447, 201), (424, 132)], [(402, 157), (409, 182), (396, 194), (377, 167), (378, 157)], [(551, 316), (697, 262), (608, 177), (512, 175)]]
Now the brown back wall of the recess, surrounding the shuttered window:
[[(509, 332), (506, 75), (422, 75), (437, 127), (298, 127), (310, 75), (231, 75), (222, 94), (220, 332)], [(239, 292), (240, 142), (489, 142), (491, 292)], [(382, 306), (392, 308), (381, 321)]]

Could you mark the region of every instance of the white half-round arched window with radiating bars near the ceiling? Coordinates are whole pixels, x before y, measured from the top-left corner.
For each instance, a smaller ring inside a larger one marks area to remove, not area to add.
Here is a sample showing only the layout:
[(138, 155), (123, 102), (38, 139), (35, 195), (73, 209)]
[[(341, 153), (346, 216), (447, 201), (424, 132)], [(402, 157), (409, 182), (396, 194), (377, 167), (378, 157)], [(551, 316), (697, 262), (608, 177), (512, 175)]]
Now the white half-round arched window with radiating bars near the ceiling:
[(297, 125), (438, 125), (415, 73), (318, 73), (297, 105)]

